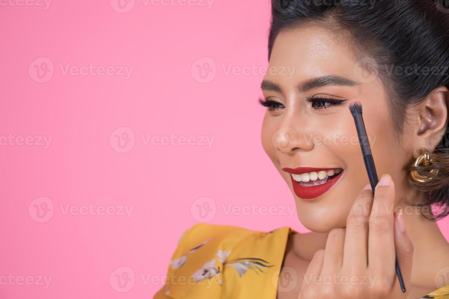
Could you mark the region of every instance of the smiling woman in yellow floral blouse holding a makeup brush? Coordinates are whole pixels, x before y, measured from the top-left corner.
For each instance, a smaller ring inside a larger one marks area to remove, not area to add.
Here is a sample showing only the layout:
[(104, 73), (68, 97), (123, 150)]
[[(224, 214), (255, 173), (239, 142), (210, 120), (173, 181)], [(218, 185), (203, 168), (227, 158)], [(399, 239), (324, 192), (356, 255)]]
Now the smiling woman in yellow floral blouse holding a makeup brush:
[[(261, 140), (312, 232), (195, 225), (155, 298), (449, 298), (449, 11), (365, 2), (273, 0), (269, 68), (294, 72), (262, 81)], [(384, 173), (375, 195), (351, 100)]]

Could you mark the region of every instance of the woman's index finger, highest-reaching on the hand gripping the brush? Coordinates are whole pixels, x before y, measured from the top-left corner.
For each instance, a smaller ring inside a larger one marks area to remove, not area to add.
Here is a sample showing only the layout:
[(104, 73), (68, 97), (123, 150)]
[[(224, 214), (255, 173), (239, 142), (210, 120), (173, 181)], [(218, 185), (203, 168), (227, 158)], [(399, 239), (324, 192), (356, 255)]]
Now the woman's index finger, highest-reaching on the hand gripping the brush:
[(394, 266), (390, 267), (395, 264), (392, 215), (394, 199), (394, 183), (391, 176), (384, 174), (374, 192), (369, 222), (368, 268), (374, 273), (394, 275)]

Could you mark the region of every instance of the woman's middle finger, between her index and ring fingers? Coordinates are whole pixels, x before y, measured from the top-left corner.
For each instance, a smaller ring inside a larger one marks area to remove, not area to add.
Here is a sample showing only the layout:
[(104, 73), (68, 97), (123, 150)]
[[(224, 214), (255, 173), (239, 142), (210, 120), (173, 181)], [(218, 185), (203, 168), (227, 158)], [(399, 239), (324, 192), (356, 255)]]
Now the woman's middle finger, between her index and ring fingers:
[(370, 184), (359, 193), (346, 219), (346, 236), (342, 269), (348, 273), (363, 273), (368, 265), (368, 221), (373, 191)]

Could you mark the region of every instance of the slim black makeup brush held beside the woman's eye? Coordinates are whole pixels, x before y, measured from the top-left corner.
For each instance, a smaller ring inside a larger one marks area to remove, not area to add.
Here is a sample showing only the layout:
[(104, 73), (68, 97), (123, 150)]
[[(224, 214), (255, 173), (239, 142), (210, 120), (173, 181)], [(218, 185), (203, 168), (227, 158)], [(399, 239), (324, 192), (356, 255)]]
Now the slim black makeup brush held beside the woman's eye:
[[(368, 178), (370, 179), (371, 189), (374, 190), (379, 182), (377, 178), (376, 166), (374, 165), (373, 155), (371, 154), (370, 142), (368, 141), (368, 135), (366, 134), (365, 123), (362, 117), (362, 104), (359, 101), (351, 101), (349, 103), (349, 111), (351, 111), (352, 117), (354, 117), (354, 123), (356, 124), (357, 135), (359, 136), (359, 143), (362, 150), (363, 161), (365, 162), (366, 172), (368, 173)], [(399, 284), (401, 285), (402, 292), (405, 293), (404, 279), (402, 278), (401, 268), (396, 257), (396, 274), (399, 279)]]

